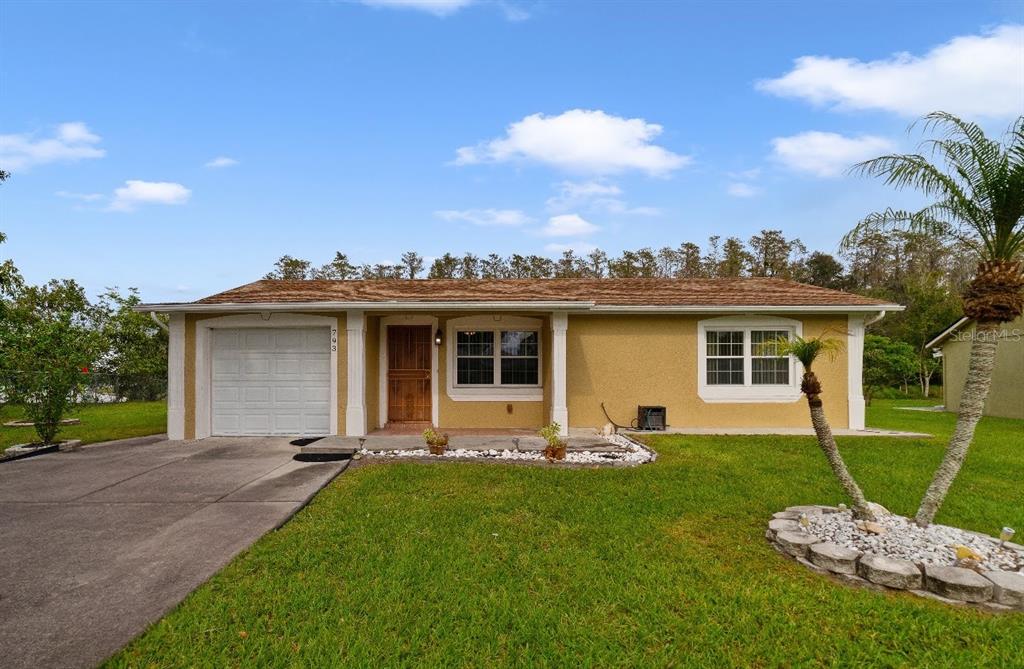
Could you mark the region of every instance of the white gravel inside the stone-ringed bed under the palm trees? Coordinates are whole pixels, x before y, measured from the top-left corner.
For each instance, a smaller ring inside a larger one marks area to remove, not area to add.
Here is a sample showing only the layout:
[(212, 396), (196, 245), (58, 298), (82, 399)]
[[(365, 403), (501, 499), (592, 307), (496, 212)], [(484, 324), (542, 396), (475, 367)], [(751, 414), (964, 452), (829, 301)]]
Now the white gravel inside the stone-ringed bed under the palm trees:
[(955, 565), (953, 546), (971, 548), (982, 556), (981, 569), (1019, 572), (1024, 574), (1024, 556), (1010, 548), (999, 548), (991, 537), (979, 536), (958, 528), (932, 525), (919, 528), (913, 520), (901, 515), (887, 514), (878, 518), (886, 529), (878, 535), (859, 529), (851, 511), (821, 513), (808, 517), (808, 532), (840, 546), (865, 553), (910, 560), (919, 565)]

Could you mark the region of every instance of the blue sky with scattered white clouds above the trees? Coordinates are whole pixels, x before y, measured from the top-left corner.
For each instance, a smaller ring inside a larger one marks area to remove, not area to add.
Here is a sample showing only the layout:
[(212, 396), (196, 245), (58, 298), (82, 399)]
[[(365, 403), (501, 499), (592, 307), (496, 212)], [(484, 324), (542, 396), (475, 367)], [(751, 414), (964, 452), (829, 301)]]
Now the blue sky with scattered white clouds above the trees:
[[(0, 4), (0, 257), (200, 297), (280, 255), (742, 238), (835, 250), (845, 176), (1024, 111), (1019, 3)], [(218, 160), (219, 159), (219, 160)]]

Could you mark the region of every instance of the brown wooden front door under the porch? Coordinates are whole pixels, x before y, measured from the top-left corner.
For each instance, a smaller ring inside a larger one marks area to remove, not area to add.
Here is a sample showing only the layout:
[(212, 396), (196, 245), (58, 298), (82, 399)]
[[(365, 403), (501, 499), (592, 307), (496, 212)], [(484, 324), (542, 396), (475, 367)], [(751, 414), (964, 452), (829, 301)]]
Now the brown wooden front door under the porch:
[(388, 422), (430, 422), (430, 326), (387, 329)]

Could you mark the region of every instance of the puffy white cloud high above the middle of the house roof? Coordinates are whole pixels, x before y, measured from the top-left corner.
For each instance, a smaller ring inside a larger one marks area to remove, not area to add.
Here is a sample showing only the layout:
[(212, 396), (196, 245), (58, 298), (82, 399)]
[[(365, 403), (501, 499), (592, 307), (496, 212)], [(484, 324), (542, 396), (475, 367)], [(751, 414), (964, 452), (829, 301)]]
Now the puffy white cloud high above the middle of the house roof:
[(456, 151), (457, 165), (528, 160), (595, 174), (640, 170), (664, 175), (690, 162), (651, 143), (662, 126), (600, 110), (558, 116), (532, 114), (508, 126), (504, 137)]

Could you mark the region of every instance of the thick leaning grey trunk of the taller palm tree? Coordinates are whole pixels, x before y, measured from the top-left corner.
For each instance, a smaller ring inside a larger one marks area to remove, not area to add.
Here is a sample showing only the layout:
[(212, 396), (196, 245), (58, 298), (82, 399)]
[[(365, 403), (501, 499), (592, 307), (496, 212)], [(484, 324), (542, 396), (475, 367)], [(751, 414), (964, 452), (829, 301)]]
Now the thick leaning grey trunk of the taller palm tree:
[(921, 508), (913, 518), (919, 527), (927, 528), (935, 519), (935, 514), (946, 498), (946, 493), (949, 492), (949, 486), (964, 465), (967, 450), (971, 446), (971, 440), (974, 438), (974, 428), (977, 427), (985, 409), (988, 387), (992, 384), (998, 327), (996, 321), (979, 321), (975, 327), (967, 379), (964, 381), (964, 392), (961, 394), (959, 409), (956, 412), (956, 427), (953, 435), (949, 437), (942, 463), (935, 471), (932, 484), (928, 487), (928, 492), (921, 501)]

